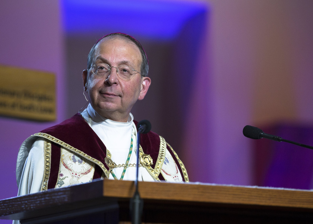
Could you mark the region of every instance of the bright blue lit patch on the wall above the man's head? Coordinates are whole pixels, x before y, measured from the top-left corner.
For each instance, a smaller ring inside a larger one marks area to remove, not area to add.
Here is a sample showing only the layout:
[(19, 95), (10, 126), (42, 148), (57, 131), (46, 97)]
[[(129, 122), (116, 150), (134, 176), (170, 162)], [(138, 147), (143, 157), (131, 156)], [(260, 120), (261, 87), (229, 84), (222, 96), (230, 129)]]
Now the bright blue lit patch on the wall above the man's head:
[(208, 5), (203, 2), (156, 0), (63, 0), (67, 35), (99, 33), (102, 30), (171, 40), (184, 24)]

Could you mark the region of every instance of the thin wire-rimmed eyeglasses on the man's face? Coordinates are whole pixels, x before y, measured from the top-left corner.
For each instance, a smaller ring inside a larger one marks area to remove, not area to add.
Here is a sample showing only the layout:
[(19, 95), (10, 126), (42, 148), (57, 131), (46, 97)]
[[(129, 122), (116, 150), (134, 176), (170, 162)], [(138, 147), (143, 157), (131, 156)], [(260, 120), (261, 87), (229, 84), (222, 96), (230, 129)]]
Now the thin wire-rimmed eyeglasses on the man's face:
[[(104, 76), (110, 73), (112, 67), (114, 66), (109, 66), (108, 64), (105, 64), (105, 63), (97, 63), (92, 66), (91, 71), (95, 75)], [(114, 68), (116, 68), (116, 73), (118, 77), (120, 77), (124, 81), (129, 81), (133, 77), (133, 75), (136, 73), (141, 74), (140, 72), (136, 71), (132, 67), (126, 66), (126, 65), (121, 65), (119, 67), (114, 67)], [(141, 76), (143, 75), (141, 74)]]

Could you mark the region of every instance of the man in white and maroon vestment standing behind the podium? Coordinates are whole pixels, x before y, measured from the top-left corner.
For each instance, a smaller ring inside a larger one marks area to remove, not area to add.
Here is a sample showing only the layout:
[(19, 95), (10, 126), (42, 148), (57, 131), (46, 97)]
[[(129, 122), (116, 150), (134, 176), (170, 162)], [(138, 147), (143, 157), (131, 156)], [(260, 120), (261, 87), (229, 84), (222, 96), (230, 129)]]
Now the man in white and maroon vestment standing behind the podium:
[[(144, 99), (151, 79), (148, 60), (133, 37), (102, 37), (82, 72), (85, 110), (30, 136), (17, 159), (18, 195), (91, 182), (135, 180), (137, 121), (131, 108)], [(139, 180), (188, 181), (187, 171), (162, 136), (141, 134)]]

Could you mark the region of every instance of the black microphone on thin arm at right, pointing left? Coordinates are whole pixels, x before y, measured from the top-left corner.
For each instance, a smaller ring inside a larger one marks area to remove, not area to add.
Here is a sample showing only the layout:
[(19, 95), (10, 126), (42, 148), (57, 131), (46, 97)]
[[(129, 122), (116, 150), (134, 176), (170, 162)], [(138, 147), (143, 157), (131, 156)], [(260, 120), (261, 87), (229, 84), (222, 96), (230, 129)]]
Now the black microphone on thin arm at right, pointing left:
[(279, 136), (264, 133), (261, 129), (254, 127), (254, 126), (250, 126), (250, 125), (246, 125), (242, 132), (244, 136), (246, 136), (247, 138), (252, 138), (252, 139), (267, 138), (267, 139), (274, 140), (274, 141), (284, 141), (284, 142), (288, 142), (297, 146), (313, 149), (312, 146), (304, 145), (304, 144), (297, 143), (294, 141), (289, 141)]

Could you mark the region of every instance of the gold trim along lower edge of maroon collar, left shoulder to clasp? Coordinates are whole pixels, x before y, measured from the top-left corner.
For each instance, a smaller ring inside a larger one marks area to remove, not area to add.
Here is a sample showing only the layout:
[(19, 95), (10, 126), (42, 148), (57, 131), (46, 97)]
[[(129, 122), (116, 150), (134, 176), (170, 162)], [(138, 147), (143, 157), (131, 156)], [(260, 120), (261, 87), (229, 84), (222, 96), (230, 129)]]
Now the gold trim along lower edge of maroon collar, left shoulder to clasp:
[(105, 173), (105, 176), (107, 178), (109, 178), (109, 172), (106, 170), (106, 168), (103, 165), (103, 163), (101, 163), (99, 160), (97, 160), (97, 159), (95, 159), (95, 158), (93, 158), (91, 156), (88, 156), (86, 153), (78, 150), (77, 148), (74, 148), (74, 147), (70, 146), (69, 144), (66, 144), (65, 142), (63, 142), (63, 141), (61, 141), (61, 140), (59, 140), (59, 139), (57, 139), (57, 138), (55, 138), (55, 137), (53, 137), (51, 135), (48, 135), (46, 133), (39, 132), (39, 133), (34, 134), (33, 136), (44, 137), (44, 138), (46, 138), (46, 139), (48, 139), (50, 141), (53, 141), (54, 143), (57, 143), (58, 145), (66, 148), (66, 149), (68, 149), (68, 150), (70, 150), (72, 152), (75, 152), (75, 153), (79, 154), (80, 156), (84, 157), (85, 159), (87, 159), (87, 160), (89, 160), (89, 161), (91, 161), (91, 162), (93, 162), (95, 164), (98, 164), (100, 166), (100, 168), (102, 169), (102, 171)]

